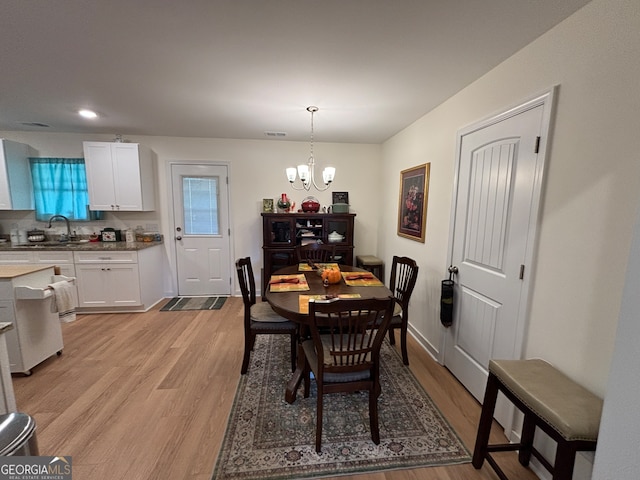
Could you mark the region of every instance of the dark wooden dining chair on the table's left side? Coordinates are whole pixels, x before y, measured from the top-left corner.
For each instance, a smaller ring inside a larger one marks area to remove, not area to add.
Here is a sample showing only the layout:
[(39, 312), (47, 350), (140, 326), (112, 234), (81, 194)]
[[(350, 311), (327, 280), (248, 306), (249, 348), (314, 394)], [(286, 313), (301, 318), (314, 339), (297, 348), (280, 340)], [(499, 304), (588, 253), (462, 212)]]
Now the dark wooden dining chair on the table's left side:
[(256, 281), (253, 277), (250, 257), (238, 259), (236, 270), (244, 302), (244, 356), (240, 373), (244, 375), (249, 369), (249, 358), (256, 342), (256, 335), (290, 335), (291, 371), (294, 371), (298, 325), (274, 312), (269, 303), (256, 302)]

